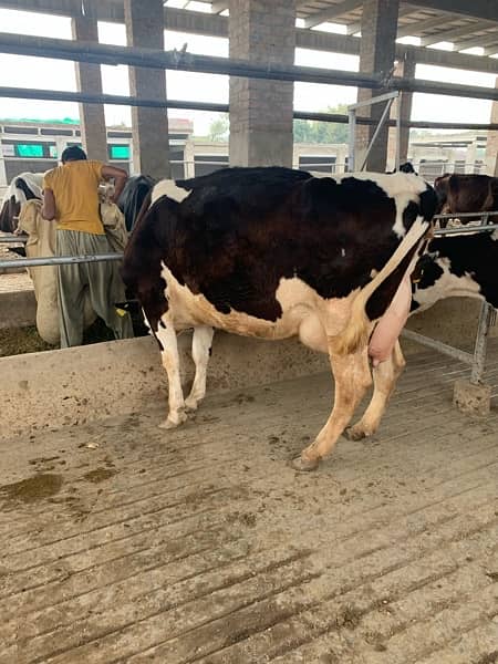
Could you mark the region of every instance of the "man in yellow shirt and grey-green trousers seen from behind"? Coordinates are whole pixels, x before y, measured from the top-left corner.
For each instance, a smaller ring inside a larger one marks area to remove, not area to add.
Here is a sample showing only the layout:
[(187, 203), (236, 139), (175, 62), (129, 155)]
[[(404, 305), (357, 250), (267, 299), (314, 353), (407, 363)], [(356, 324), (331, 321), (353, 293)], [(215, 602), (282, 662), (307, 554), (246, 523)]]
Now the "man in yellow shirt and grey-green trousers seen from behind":
[[(56, 222), (58, 256), (112, 252), (100, 215), (98, 184), (114, 178), (113, 201), (116, 201), (126, 183), (126, 172), (87, 160), (77, 146), (65, 148), (61, 160), (61, 166), (44, 176), (42, 207), (43, 217)], [(115, 338), (133, 336), (129, 314), (122, 317), (114, 307), (114, 302), (125, 299), (117, 263), (71, 263), (59, 266), (58, 270), (61, 347), (83, 341), (85, 289), (95, 313)]]

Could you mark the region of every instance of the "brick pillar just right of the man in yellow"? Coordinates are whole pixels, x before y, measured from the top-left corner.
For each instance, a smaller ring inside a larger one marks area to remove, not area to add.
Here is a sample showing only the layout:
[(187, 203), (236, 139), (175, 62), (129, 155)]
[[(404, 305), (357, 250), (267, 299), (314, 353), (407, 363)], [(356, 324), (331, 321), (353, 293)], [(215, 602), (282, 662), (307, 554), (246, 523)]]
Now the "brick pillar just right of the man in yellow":
[[(125, 0), (128, 46), (164, 49), (163, 0)], [(166, 73), (129, 68), (132, 96), (166, 101)], [(168, 116), (166, 108), (132, 108), (133, 165), (136, 173), (169, 178)]]

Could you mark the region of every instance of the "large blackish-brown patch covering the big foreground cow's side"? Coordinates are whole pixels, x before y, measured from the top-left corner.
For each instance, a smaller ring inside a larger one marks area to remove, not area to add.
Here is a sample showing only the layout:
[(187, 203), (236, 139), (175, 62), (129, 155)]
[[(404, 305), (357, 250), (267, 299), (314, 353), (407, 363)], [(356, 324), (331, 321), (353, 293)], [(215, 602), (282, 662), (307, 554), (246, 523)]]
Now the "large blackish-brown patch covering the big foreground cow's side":
[[(218, 311), (276, 321), (282, 278), (342, 298), (370, 282), (400, 243), (394, 199), (370, 179), (338, 184), (287, 168), (234, 168), (177, 184), (189, 196), (155, 201), (125, 252), (124, 281), (152, 324), (167, 310), (162, 261)], [(407, 227), (419, 215), (408, 206)], [(408, 261), (371, 298), (370, 312), (386, 309)]]

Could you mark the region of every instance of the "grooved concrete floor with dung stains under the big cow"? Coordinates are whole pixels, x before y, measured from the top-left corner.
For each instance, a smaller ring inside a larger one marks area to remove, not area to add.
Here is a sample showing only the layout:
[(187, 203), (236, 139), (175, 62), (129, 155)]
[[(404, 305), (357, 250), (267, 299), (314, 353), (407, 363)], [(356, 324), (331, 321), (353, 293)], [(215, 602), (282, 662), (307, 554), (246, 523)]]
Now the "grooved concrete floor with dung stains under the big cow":
[(3, 444), (0, 663), (497, 662), (498, 402), (457, 413), (466, 374), (412, 357), (378, 434), (311, 475), (288, 460), (328, 375)]

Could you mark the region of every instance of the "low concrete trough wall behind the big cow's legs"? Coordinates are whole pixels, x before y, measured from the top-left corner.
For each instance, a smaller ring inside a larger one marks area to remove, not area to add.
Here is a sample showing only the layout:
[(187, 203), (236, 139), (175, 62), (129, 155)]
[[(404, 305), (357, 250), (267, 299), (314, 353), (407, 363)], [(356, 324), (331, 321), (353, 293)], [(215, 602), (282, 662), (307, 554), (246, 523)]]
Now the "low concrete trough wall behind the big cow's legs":
[[(19, 302), (12, 304), (19, 307)], [(475, 300), (445, 300), (412, 317), (408, 326), (473, 350), (479, 309), (480, 303)], [(492, 328), (491, 336), (498, 336), (498, 326)], [(189, 335), (181, 334), (178, 342), (187, 386), (194, 373)], [(415, 354), (424, 347), (407, 340), (402, 340), (402, 347), (409, 371), (411, 362), (416, 362)], [(255, 385), (263, 390), (269, 383), (323, 371), (330, 371), (328, 357), (297, 340), (268, 342), (217, 332), (208, 393)], [(157, 407), (158, 422), (166, 414), (166, 374), (151, 336), (0, 357), (0, 439), (151, 406)]]

